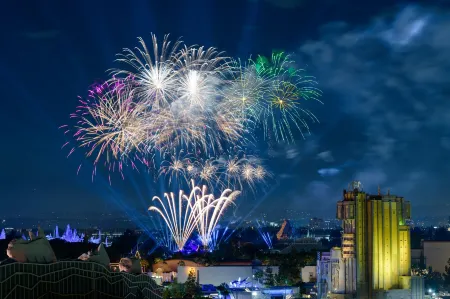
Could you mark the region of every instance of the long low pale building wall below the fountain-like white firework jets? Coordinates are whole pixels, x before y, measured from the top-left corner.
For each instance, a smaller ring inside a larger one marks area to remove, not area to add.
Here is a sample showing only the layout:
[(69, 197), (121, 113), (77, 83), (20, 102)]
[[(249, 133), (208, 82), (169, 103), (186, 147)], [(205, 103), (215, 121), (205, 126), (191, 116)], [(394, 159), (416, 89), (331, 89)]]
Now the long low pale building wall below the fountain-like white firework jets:
[[(278, 274), (278, 267), (272, 268), (273, 274)], [(250, 286), (257, 284), (256, 279), (253, 280), (253, 274), (257, 270), (265, 271), (267, 267), (252, 267), (252, 266), (212, 266), (212, 267), (189, 267), (178, 266), (177, 281), (179, 283), (186, 282), (189, 272), (194, 271), (197, 282), (199, 284), (212, 284), (218, 286), (222, 283), (229, 284), (232, 281), (244, 280), (246, 278), (250, 282)]]

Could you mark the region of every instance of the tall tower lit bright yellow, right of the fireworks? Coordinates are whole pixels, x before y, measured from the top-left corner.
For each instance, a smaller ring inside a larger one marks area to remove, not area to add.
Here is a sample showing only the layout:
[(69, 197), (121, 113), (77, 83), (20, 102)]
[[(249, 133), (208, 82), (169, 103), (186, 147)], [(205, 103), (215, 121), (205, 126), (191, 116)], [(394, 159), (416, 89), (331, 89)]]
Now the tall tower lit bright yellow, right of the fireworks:
[(359, 182), (352, 182), (337, 203), (342, 220), (342, 257), (356, 263), (358, 298), (410, 289), (410, 203), (388, 193), (369, 195)]

